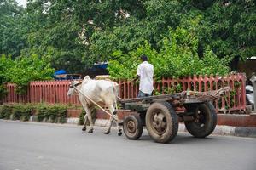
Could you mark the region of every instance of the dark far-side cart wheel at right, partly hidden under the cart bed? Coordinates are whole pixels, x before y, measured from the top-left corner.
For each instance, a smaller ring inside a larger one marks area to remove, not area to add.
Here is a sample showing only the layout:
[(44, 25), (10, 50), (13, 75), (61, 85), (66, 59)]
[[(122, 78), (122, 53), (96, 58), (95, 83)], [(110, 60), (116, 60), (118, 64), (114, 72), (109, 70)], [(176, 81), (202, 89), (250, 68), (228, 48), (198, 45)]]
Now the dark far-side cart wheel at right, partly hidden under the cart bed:
[(185, 122), (190, 134), (196, 138), (204, 138), (213, 132), (217, 124), (217, 115), (211, 102), (197, 105), (194, 117), (194, 121)]

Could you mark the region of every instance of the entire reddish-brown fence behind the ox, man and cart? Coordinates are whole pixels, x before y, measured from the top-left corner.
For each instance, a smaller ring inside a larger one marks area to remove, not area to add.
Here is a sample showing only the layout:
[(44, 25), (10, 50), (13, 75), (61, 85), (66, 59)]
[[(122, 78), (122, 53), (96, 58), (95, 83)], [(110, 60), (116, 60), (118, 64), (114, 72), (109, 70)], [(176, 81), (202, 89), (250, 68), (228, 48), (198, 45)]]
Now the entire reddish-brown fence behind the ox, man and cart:
[[(47, 102), (50, 104), (79, 104), (79, 99), (76, 96), (67, 99), (67, 90), (70, 81), (37, 81), (31, 82), (27, 94), (19, 95), (15, 93), (15, 84), (7, 85), (8, 95), (3, 100), (5, 103), (41, 103)], [(230, 86), (232, 91), (226, 98), (216, 100), (214, 105), (217, 111), (245, 111), (246, 96), (245, 96), (244, 74), (233, 74), (226, 77), (207, 77), (194, 76), (183, 77), (182, 79), (162, 79), (160, 82), (154, 82), (155, 94), (176, 93), (184, 90), (208, 91), (217, 90), (224, 86)], [(138, 94), (138, 84), (131, 82), (119, 82), (119, 97), (123, 99), (135, 98)]]

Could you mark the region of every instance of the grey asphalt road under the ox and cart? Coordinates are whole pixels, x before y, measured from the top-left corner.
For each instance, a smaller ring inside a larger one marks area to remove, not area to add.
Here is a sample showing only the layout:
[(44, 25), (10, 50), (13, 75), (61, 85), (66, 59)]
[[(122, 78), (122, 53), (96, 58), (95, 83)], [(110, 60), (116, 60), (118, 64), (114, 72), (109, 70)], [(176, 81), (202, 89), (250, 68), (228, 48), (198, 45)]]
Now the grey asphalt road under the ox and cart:
[(256, 139), (178, 133), (172, 143), (157, 144), (145, 131), (137, 141), (103, 132), (0, 120), (0, 170), (256, 169)]

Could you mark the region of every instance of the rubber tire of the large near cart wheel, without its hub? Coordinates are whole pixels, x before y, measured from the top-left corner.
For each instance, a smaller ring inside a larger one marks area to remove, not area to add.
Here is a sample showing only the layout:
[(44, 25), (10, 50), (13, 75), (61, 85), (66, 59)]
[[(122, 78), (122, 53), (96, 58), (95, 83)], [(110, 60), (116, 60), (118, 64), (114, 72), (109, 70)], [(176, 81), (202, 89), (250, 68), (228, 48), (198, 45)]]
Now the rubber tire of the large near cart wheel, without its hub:
[[(155, 110), (161, 110), (161, 112), (166, 117), (166, 132), (163, 134), (155, 133), (152, 116), (154, 116)], [(168, 102), (154, 102), (148, 107), (148, 111), (146, 113), (146, 127), (148, 130), (149, 136), (154, 139), (157, 143), (169, 143), (172, 139), (174, 139), (177, 135), (178, 130), (178, 120), (177, 120), (177, 113), (172, 108), (172, 105)]]

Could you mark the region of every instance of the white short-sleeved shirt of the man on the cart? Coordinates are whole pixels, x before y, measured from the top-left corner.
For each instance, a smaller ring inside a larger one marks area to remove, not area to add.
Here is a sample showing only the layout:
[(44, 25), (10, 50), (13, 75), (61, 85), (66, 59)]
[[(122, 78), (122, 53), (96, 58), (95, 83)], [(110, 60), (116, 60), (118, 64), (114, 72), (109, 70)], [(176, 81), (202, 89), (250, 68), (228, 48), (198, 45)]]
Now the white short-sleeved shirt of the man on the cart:
[(151, 94), (153, 87), (154, 66), (144, 61), (137, 66), (137, 75), (140, 77), (140, 88), (144, 94)]

